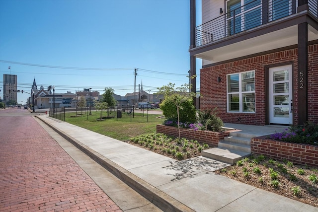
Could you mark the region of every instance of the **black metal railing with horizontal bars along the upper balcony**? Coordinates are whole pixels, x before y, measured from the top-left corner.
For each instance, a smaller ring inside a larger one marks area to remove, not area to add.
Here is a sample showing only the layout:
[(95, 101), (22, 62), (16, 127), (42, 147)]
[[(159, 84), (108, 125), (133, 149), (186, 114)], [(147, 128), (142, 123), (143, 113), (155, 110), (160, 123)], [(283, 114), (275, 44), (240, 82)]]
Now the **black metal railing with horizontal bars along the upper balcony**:
[[(309, 12), (318, 18), (317, 0), (308, 0)], [(211, 43), (239, 32), (296, 13), (296, 0), (272, 0), (267, 5), (254, 0), (231, 8), (224, 15), (196, 27), (196, 46)]]

